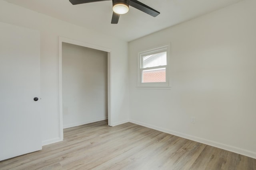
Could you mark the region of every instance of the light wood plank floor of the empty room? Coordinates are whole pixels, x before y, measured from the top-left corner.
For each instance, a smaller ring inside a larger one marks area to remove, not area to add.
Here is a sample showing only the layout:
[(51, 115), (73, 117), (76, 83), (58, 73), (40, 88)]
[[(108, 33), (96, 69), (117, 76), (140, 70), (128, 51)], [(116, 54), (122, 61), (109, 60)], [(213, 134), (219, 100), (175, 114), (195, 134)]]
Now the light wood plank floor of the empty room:
[(133, 123), (64, 129), (64, 141), (0, 162), (0, 170), (256, 170), (256, 159)]

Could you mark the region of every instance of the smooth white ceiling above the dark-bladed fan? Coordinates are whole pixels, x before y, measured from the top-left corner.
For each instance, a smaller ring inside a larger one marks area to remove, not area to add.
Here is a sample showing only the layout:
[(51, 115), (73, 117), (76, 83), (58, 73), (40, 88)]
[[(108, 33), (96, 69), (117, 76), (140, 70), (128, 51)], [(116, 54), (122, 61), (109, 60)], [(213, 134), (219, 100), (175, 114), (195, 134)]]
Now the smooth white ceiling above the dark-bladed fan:
[(111, 24), (112, 1), (72, 5), (69, 0), (5, 0), (125, 41), (143, 37), (241, 0), (140, 0), (160, 12), (156, 18), (133, 7)]

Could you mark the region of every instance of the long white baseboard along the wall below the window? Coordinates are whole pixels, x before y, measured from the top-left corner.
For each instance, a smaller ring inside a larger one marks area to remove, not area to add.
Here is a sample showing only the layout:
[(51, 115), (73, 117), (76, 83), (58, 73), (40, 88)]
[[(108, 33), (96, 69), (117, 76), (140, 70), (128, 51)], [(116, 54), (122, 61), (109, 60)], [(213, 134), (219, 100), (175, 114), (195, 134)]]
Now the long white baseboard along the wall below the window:
[(199, 142), (199, 143), (210, 145), (212, 147), (217, 147), (217, 148), (220, 148), (220, 149), (228, 150), (230, 152), (235, 152), (235, 153), (242, 154), (244, 156), (249, 156), (251, 158), (256, 159), (256, 152), (252, 152), (250, 150), (245, 150), (245, 149), (241, 149), (241, 148), (237, 148), (237, 147), (232, 147), (230, 145), (226, 145), (226, 144), (223, 144), (223, 143), (218, 143), (218, 142), (211, 141), (211, 140), (208, 140), (208, 139), (203, 139), (203, 138), (200, 138), (200, 137), (195, 137), (195, 136), (192, 136), (192, 135), (187, 135), (187, 134), (180, 133), (180, 132), (177, 132), (177, 131), (171, 131), (169, 129), (165, 129), (165, 128), (162, 128), (162, 127), (150, 125), (150, 124), (143, 123), (143, 122), (140, 122), (140, 121), (130, 120), (130, 122), (135, 123), (137, 125), (144, 126), (144, 127), (148, 127), (150, 129), (155, 129), (155, 130), (158, 130), (158, 131), (162, 131), (164, 133), (169, 133), (171, 135), (175, 135), (175, 136), (178, 136), (178, 137), (182, 137), (182, 138), (185, 138), (185, 139), (189, 139), (189, 140), (192, 140), (192, 141), (196, 141), (196, 142)]

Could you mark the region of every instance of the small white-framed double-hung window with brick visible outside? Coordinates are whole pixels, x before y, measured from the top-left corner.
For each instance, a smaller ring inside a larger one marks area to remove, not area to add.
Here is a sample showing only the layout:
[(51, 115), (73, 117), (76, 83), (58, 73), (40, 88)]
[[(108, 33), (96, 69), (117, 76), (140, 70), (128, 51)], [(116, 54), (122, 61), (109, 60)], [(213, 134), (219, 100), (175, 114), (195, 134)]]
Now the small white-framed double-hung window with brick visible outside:
[(168, 45), (139, 53), (138, 87), (170, 87), (168, 55)]

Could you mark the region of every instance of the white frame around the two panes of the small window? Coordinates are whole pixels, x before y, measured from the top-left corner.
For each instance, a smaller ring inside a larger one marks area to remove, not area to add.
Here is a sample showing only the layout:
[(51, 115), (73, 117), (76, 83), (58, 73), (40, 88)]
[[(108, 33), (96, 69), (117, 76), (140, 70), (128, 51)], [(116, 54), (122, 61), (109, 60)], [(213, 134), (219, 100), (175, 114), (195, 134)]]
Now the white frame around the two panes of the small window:
[[(160, 53), (166, 51), (166, 66), (155, 66), (155, 67), (148, 67), (148, 68), (141, 68), (143, 63), (143, 56)], [(169, 59), (170, 59), (170, 45), (163, 45), (160, 47), (156, 47), (154, 49), (146, 50), (143, 52), (138, 53), (138, 79), (137, 79), (137, 88), (140, 89), (170, 89), (170, 78), (169, 78)], [(142, 71), (143, 70), (150, 70), (156, 68), (166, 68), (166, 82), (142, 82)]]

